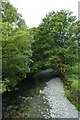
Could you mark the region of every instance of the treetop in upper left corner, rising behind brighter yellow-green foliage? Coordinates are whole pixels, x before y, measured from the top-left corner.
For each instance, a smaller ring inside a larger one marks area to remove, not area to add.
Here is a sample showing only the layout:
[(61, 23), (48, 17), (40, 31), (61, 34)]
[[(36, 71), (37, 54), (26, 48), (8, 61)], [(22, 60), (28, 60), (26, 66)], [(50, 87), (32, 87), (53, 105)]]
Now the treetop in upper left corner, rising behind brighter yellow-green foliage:
[(17, 12), (17, 9), (10, 2), (2, 2), (1, 13), (3, 22), (8, 22), (13, 27), (26, 29), (26, 23), (22, 19), (22, 15)]

